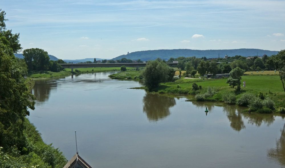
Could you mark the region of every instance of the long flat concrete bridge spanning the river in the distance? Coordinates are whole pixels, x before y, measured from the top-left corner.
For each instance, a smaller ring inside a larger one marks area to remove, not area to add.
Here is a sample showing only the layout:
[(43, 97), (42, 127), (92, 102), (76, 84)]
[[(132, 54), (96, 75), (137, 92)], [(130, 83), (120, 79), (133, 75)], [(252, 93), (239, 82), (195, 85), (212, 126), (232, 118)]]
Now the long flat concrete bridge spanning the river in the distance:
[[(167, 63), (170, 67), (177, 66), (178, 63)], [(125, 65), (126, 67), (145, 67), (146, 63), (61, 63), (60, 64), (63, 68), (71, 68), (71, 71), (73, 72), (73, 69), (76, 68), (91, 68), (91, 67), (121, 67)]]

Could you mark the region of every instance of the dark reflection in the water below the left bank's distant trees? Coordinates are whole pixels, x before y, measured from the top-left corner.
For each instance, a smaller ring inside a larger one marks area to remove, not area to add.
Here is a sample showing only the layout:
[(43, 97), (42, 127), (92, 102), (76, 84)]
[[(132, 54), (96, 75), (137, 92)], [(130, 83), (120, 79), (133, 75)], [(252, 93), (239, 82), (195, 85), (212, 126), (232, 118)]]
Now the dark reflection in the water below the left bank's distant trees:
[(50, 91), (56, 89), (57, 83), (52, 80), (35, 80), (35, 85), (31, 93), (36, 97), (39, 102), (45, 102), (50, 96)]

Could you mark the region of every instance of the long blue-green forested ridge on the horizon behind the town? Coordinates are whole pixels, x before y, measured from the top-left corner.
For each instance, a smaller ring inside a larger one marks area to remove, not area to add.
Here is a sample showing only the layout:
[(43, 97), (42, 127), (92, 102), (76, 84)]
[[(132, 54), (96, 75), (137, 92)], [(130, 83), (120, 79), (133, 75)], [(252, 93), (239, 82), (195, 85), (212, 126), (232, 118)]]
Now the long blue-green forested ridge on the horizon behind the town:
[(161, 58), (163, 60), (168, 60), (169, 58), (177, 57), (193, 57), (196, 58), (207, 57), (207, 58), (221, 58), (228, 55), (230, 57), (240, 55), (244, 57), (248, 56), (267, 56), (275, 55), (278, 51), (260, 50), (260, 49), (232, 49), (232, 50), (190, 50), (190, 49), (173, 49), (173, 50), (148, 50), (148, 51), (136, 51), (129, 54), (121, 55), (111, 60), (120, 60), (122, 58), (127, 58), (130, 60), (155, 60), (156, 58)]

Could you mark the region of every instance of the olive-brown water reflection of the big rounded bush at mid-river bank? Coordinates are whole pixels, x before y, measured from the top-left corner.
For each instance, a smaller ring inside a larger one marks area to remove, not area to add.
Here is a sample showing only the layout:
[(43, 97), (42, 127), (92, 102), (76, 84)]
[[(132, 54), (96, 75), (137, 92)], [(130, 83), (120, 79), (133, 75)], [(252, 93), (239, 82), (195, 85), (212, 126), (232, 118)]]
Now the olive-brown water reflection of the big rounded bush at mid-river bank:
[(158, 121), (170, 115), (169, 108), (176, 105), (173, 97), (146, 93), (143, 97), (143, 112), (149, 121)]

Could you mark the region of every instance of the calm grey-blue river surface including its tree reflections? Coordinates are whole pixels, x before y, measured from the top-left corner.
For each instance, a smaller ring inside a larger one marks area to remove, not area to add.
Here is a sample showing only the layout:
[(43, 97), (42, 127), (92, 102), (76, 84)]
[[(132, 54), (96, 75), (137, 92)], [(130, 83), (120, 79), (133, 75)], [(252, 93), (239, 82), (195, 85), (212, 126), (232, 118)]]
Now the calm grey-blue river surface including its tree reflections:
[(285, 116), (128, 89), (141, 84), (110, 74), (35, 81), (28, 118), (68, 160), (76, 130), (79, 155), (96, 168), (285, 167)]

